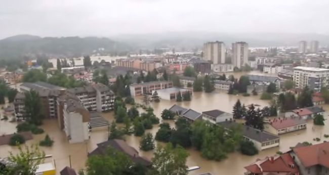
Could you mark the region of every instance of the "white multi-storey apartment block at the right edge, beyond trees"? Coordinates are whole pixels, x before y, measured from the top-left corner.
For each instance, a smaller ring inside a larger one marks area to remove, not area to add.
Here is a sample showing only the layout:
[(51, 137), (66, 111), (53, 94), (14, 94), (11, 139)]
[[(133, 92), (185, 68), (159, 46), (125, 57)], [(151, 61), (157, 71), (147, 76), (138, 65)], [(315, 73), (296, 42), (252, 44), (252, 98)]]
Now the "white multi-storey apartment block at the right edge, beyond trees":
[(310, 89), (319, 92), (321, 87), (329, 84), (329, 69), (316, 67), (294, 67), (293, 77), (296, 87), (303, 89), (308, 86)]

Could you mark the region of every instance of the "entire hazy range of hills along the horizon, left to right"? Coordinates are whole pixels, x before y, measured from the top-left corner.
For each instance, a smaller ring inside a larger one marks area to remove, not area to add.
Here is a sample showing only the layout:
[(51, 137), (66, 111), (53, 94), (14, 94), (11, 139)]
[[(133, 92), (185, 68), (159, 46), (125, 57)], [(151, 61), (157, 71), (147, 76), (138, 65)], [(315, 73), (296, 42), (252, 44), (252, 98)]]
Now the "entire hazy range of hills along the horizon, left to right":
[(246, 41), (250, 47), (297, 46), (300, 40), (318, 40), (320, 46), (329, 45), (329, 35), (316, 33), (216, 33), (164, 32), (149, 34), (121, 34), (107, 37), (39, 37), (16, 35), (0, 40), (0, 59), (35, 57), (79, 57), (104, 48), (103, 54), (127, 55), (140, 49), (176, 48), (201, 49), (204, 42), (220, 40), (226, 47), (235, 41)]

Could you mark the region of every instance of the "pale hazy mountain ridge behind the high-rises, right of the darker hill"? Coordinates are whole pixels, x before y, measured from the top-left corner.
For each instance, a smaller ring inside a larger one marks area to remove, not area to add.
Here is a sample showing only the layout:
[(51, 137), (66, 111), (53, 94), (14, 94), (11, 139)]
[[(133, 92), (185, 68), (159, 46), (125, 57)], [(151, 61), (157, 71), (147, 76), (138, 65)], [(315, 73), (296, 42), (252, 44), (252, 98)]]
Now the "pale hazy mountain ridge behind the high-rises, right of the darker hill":
[(135, 47), (154, 48), (201, 48), (207, 41), (224, 41), (227, 47), (235, 41), (246, 41), (250, 47), (298, 46), (300, 40), (318, 40), (320, 46), (329, 45), (329, 35), (316, 33), (223, 33), (223, 32), (166, 32), (112, 37), (122, 42), (134, 43)]

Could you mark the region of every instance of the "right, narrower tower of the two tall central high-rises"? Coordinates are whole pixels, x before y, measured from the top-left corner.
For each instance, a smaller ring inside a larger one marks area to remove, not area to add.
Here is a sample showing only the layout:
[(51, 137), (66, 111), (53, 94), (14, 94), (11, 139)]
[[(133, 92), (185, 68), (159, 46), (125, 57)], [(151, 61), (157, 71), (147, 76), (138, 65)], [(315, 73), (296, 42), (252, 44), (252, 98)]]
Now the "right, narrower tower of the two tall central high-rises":
[(235, 42), (232, 43), (232, 64), (234, 67), (241, 68), (244, 64), (248, 64), (248, 43)]

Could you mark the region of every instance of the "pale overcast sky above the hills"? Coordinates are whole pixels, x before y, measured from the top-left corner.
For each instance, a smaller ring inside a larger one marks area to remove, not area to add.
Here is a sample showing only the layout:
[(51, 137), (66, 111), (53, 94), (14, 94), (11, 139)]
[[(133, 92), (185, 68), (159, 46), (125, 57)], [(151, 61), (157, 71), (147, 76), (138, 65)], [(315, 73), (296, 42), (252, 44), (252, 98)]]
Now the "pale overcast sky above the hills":
[(2, 0), (0, 38), (166, 31), (329, 34), (328, 0)]

